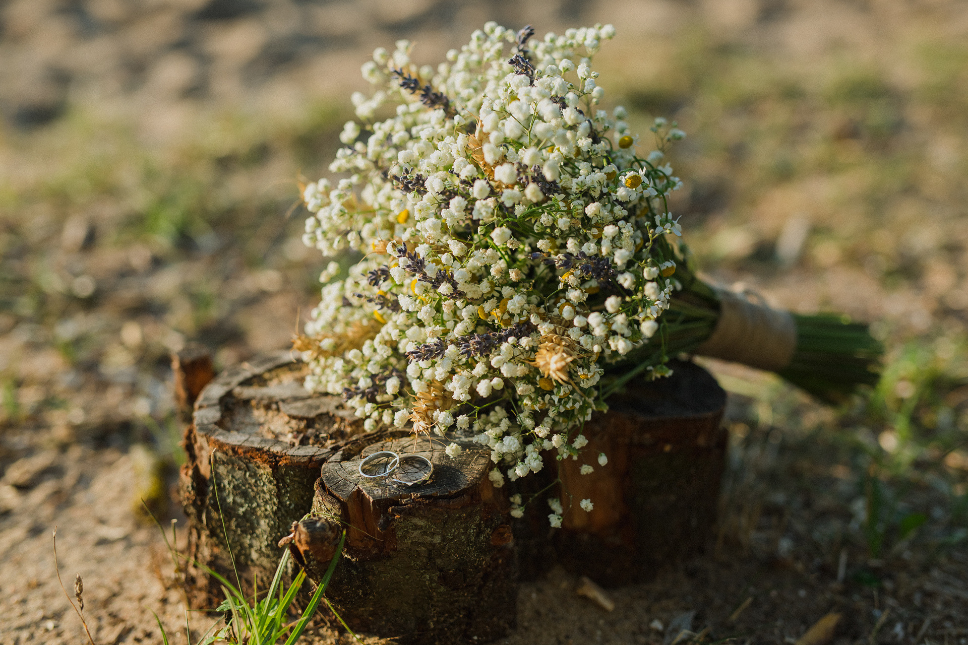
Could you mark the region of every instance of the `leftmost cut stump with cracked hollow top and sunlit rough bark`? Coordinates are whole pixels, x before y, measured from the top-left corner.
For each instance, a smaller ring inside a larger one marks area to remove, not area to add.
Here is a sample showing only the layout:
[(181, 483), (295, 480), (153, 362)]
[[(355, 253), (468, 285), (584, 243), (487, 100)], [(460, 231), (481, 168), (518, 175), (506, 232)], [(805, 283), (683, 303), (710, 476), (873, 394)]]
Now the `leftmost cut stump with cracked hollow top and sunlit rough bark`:
[[(303, 389), (306, 371), (279, 352), (227, 368), (197, 397), (180, 478), (189, 555), (233, 583), (232, 558), (244, 585), (254, 573), (268, 583), (280, 538), (313, 505), (320, 466), (362, 431), (339, 396)], [(196, 606), (221, 598), (206, 572), (188, 576)]]

